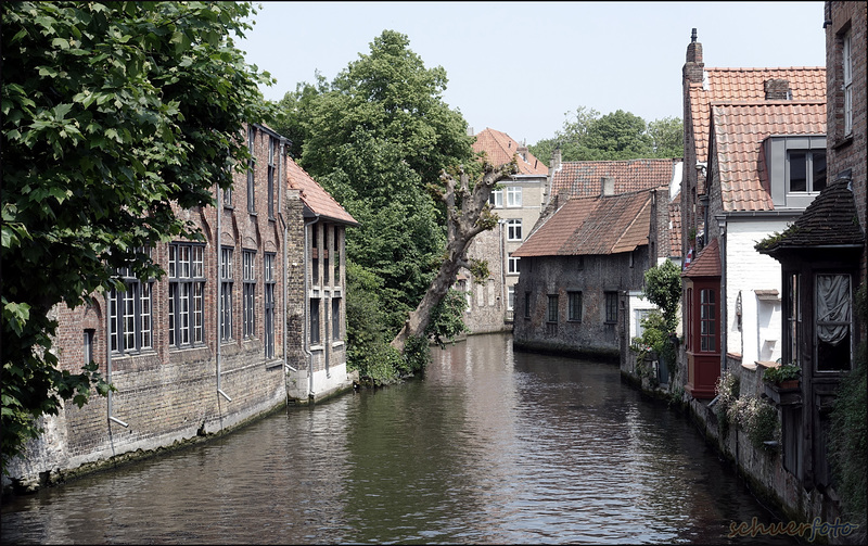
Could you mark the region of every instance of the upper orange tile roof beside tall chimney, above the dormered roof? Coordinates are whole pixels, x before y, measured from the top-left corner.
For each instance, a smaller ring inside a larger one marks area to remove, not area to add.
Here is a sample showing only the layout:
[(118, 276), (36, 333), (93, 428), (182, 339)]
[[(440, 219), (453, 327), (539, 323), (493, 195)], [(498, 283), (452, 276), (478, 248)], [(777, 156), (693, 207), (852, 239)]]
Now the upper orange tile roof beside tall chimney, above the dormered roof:
[(794, 101), (826, 102), (826, 67), (709, 68), (705, 81), (689, 84), (688, 100), (693, 119), (697, 161), (709, 154), (710, 104), (765, 100), (768, 79), (787, 79)]

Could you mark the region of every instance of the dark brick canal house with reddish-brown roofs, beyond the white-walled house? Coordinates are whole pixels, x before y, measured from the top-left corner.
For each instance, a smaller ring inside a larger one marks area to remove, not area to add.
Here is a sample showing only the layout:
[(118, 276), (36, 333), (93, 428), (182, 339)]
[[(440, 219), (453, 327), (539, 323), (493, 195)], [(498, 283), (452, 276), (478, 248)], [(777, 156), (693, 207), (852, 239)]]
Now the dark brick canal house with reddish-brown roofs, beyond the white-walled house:
[[(649, 165), (658, 164), (668, 169), (644, 176), (655, 172)], [(621, 358), (635, 332), (630, 300), (660, 256), (650, 239), (655, 239), (651, 234), (660, 226), (667, 226), (676, 164), (672, 160), (560, 164), (556, 157), (554, 181), (564, 170), (587, 180), (559, 187), (531, 236), (513, 253), (523, 264), (515, 288), (516, 347)], [(649, 187), (617, 192), (642, 183)], [(596, 188), (596, 194), (587, 195), (588, 186)]]

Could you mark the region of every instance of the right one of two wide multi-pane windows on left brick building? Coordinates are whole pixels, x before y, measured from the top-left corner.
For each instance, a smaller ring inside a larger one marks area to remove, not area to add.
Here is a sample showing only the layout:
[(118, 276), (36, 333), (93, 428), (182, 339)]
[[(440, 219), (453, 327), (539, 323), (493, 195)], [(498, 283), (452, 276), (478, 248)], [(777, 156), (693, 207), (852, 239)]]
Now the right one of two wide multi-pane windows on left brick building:
[(169, 345), (205, 342), (205, 246), (169, 244)]

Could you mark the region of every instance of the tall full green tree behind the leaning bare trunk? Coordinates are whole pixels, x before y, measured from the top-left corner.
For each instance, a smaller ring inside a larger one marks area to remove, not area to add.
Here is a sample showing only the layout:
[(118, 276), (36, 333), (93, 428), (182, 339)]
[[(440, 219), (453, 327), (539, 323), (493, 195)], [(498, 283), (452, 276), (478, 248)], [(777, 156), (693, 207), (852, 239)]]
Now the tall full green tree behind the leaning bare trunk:
[(467, 122), (443, 102), (446, 84), (405, 35), (384, 30), (331, 84), (302, 84), (280, 104), (298, 163), (359, 220), (347, 259), (381, 281), (393, 334), (443, 261), (446, 209), (431, 191), (441, 169), (474, 163)]

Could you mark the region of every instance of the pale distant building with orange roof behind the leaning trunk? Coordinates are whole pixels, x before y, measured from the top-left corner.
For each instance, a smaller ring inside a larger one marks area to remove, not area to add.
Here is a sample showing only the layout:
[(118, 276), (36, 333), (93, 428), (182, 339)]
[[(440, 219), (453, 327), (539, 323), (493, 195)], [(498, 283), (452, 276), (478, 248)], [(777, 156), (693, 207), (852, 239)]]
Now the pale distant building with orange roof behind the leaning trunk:
[(476, 135), (473, 151), (485, 152), (488, 162), (498, 166), (515, 157), (519, 172), (492, 192), (492, 211), (500, 218), (497, 227), (476, 236), (468, 250), (469, 257), (488, 262), (490, 276), (480, 283), (469, 271), (462, 271), (456, 288), (468, 294), (464, 322), (471, 332), (509, 331), (521, 267), (512, 253), (527, 237), (545, 205), (548, 166), (524, 144), (490, 128)]

